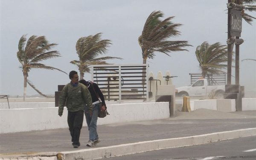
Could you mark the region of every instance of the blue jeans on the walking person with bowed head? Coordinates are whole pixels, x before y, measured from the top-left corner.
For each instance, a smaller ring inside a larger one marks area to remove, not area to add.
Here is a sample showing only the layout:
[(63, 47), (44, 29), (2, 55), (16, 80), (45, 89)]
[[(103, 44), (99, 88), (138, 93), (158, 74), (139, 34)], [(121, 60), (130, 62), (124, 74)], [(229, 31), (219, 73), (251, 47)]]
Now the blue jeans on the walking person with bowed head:
[(84, 110), (84, 115), (86, 118), (88, 130), (89, 130), (89, 140), (91, 140), (91, 141), (99, 139), (98, 133), (97, 133), (97, 120), (98, 120), (99, 108), (100, 108), (100, 103), (93, 105), (92, 117), (90, 116), (90, 113), (89, 113), (87, 107)]

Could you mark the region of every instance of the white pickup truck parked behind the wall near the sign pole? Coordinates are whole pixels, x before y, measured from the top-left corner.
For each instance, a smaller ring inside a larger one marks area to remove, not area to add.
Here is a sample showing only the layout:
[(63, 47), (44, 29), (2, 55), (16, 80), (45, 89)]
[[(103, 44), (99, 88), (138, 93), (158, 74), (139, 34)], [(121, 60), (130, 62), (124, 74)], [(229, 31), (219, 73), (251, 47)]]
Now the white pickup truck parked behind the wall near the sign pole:
[(210, 86), (207, 79), (199, 79), (189, 86), (178, 87), (176, 90), (177, 97), (209, 97), (223, 98), (225, 85)]

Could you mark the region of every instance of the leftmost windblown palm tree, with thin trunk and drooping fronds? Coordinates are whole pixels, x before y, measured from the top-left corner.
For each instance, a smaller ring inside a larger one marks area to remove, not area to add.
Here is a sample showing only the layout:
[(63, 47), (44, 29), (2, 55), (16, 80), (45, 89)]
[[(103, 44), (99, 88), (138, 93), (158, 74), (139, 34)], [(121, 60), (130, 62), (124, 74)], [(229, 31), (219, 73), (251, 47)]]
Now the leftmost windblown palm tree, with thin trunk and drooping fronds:
[[(25, 47), (26, 43), (26, 47)], [(26, 100), (26, 88), (27, 83), (31, 86), (35, 91), (39, 94), (47, 97), (47, 95), (42, 94), (35, 86), (30, 82), (27, 77), (29, 76), (30, 69), (37, 68), (37, 69), (56, 69), (51, 66), (45, 66), (44, 64), (40, 63), (43, 60), (47, 60), (53, 57), (60, 57), (61, 55), (58, 51), (50, 51), (54, 46), (57, 44), (49, 43), (44, 36), (31, 36), (29, 40), (26, 42), (26, 35), (23, 35), (20, 38), (18, 49), (17, 51), (17, 58), (21, 63), (22, 72), (24, 76), (24, 91), (23, 91), (23, 100)], [(56, 69), (61, 71), (60, 69)], [(64, 72), (64, 71), (62, 71)], [(66, 73), (66, 72), (64, 72)], [(67, 73), (66, 73), (67, 74)]]

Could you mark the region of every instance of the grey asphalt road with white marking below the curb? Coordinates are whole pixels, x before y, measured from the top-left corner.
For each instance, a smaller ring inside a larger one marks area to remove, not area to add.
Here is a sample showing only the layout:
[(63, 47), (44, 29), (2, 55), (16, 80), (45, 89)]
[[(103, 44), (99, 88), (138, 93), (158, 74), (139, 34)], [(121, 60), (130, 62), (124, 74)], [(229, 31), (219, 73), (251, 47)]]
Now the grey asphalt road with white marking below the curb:
[(256, 136), (162, 149), (104, 160), (256, 160)]

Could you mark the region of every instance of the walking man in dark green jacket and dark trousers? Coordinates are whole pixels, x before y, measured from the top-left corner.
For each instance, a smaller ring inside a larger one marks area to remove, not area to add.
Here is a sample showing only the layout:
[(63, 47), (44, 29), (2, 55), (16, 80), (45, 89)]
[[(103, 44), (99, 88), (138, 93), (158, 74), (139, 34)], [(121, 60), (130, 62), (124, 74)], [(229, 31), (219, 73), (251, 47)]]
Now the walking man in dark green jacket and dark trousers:
[(71, 80), (61, 91), (59, 98), (58, 115), (61, 117), (64, 104), (67, 99), (67, 123), (72, 137), (72, 145), (74, 148), (80, 146), (79, 137), (84, 120), (84, 107), (88, 107), (90, 114), (92, 113), (93, 104), (90, 91), (86, 86), (79, 83), (79, 77), (76, 71), (70, 71), (69, 78)]

